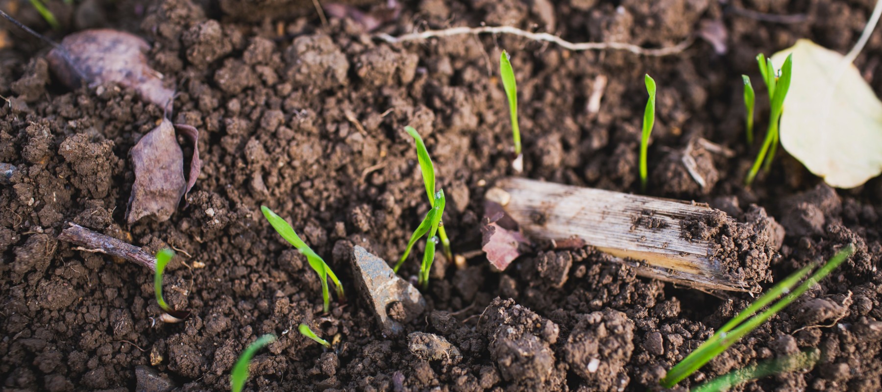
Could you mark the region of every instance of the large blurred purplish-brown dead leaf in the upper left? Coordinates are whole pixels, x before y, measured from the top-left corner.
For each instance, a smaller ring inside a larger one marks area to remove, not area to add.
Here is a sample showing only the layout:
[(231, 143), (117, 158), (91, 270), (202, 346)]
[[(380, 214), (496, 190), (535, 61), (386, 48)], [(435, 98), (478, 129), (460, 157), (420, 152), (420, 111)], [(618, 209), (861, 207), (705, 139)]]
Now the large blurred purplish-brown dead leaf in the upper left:
[(147, 49), (150, 45), (137, 35), (95, 29), (64, 37), (47, 58), (52, 71), (67, 87), (116, 82), (135, 89), (144, 100), (170, 109), (174, 91), (164, 87), (161, 73), (147, 65)]

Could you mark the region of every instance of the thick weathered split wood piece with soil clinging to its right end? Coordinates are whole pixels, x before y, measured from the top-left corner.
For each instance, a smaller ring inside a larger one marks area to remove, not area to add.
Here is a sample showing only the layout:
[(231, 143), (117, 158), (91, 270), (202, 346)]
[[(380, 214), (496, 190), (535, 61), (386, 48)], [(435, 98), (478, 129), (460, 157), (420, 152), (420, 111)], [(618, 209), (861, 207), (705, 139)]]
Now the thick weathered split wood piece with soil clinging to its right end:
[[(527, 236), (580, 237), (643, 275), (709, 290), (759, 290), (775, 223), (736, 222), (705, 204), (509, 177), (488, 192)], [(494, 196), (490, 194), (495, 193)], [(766, 219), (762, 214), (761, 218)]]

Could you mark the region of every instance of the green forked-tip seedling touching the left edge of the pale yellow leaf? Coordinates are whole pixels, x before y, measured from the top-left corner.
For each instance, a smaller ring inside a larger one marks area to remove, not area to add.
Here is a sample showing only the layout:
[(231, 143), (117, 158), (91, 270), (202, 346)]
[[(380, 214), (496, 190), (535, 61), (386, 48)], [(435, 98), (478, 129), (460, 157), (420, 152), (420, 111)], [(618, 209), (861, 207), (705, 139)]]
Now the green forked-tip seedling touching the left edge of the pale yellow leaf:
[(790, 55), (784, 60), (780, 74), (775, 72), (772, 59), (766, 59), (762, 53), (757, 56), (757, 63), (759, 64), (759, 73), (762, 75), (763, 81), (766, 82), (766, 88), (769, 92), (769, 125), (766, 131), (766, 139), (763, 139), (763, 146), (759, 149), (757, 159), (753, 162), (751, 170), (744, 179), (744, 185), (746, 186), (750, 186), (753, 183), (753, 179), (757, 177), (761, 165), (766, 171), (772, 167), (772, 160), (778, 149), (778, 127), (781, 123), (781, 111), (784, 109), (784, 98), (790, 89), (793, 56)]

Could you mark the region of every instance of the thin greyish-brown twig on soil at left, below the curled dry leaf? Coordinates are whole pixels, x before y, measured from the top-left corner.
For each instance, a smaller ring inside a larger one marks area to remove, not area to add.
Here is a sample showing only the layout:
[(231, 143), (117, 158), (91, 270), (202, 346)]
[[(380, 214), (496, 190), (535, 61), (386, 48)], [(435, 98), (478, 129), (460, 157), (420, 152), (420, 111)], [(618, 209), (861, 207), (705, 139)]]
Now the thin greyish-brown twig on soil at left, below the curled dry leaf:
[(121, 257), (142, 267), (156, 271), (156, 258), (138, 246), (131, 245), (114, 237), (88, 230), (78, 224), (68, 222), (71, 227), (61, 231), (58, 239), (81, 246), (80, 250), (92, 253), (106, 253)]

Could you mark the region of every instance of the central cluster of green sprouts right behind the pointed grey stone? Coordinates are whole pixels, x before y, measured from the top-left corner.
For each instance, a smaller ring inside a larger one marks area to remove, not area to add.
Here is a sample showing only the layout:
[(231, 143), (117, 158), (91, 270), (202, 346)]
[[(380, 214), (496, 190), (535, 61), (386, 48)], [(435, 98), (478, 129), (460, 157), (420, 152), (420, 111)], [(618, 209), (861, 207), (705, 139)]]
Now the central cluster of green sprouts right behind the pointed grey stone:
[[(407, 248), (405, 248), (404, 254), (401, 255), (398, 263), (395, 264), (394, 270), (396, 273), (399, 268), (401, 268), (401, 264), (404, 263), (404, 260), (407, 260), (407, 256), (410, 254), (416, 241), (426, 234), (429, 234), (429, 242), (432, 243), (437, 241), (437, 238), (435, 237), (437, 233), (438, 237), (441, 237), (441, 245), (444, 246), (447, 260), (452, 260), (453, 258), (450, 250), (450, 239), (447, 238), (447, 233), (444, 230), (444, 223), (441, 221), (446, 204), (444, 190), (435, 191), (435, 168), (432, 165), (429, 151), (426, 150), (426, 145), (422, 142), (420, 134), (411, 126), (405, 127), (405, 131), (407, 131), (407, 133), (409, 133), (415, 140), (416, 157), (417, 161), (420, 163), (422, 182), (426, 186), (426, 194), (429, 196), (431, 208), (414, 231), (414, 234), (410, 236), (410, 240), (407, 241)], [(433, 260), (435, 260), (435, 244), (427, 244), (426, 252), (422, 256), (422, 266), (420, 268), (420, 283), (422, 283), (424, 288), (427, 287), (429, 283), (429, 272), (427, 268), (431, 267)]]

